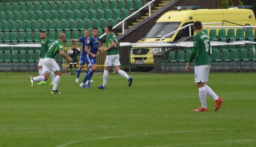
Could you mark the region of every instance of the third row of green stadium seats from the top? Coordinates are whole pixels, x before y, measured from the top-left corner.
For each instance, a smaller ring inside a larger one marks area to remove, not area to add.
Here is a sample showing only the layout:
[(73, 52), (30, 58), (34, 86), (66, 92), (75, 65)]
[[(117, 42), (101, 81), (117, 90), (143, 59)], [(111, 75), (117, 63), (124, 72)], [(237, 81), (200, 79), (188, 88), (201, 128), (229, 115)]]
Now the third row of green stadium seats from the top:
[(92, 30), (92, 28), (102, 30), (109, 24), (115, 26), (117, 25), (117, 20), (0, 22), (0, 31), (77, 31), (86, 29)]

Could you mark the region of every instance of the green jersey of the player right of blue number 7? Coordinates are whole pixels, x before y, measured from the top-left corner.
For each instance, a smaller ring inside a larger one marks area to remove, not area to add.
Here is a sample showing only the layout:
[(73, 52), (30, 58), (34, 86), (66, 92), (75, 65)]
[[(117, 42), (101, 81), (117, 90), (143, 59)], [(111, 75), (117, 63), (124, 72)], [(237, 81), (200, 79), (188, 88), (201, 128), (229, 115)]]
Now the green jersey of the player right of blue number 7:
[(115, 43), (115, 46), (112, 49), (109, 49), (107, 51), (107, 55), (113, 55), (113, 54), (119, 54), (119, 51), (117, 50), (117, 37), (114, 33), (110, 33), (107, 36), (107, 40), (106, 40), (106, 44), (107, 44), (107, 48), (111, 45), (111, 42)]

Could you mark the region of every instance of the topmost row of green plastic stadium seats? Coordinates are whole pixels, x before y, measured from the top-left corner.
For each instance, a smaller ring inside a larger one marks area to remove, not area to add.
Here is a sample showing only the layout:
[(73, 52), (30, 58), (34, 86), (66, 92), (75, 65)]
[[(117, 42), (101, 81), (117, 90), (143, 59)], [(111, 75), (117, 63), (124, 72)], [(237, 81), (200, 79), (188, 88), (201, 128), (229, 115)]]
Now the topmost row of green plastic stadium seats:
[[(134, 4), (133, 4), (134, 3)], [(141, 0), (120, 1), (65, 1), (65, 2), (21, 2), (0, 3), (0, 11), (74, 11), (74, 10), (136, 10), (142, 7)]]

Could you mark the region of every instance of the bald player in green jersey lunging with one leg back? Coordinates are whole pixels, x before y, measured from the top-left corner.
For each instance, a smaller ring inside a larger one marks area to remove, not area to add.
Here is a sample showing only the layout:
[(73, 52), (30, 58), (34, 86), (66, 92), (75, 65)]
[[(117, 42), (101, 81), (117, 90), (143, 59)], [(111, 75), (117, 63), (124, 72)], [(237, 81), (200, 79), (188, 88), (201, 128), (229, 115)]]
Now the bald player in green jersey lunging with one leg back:
[(59, 85), (59, 80), (61, 77), (61, 72), (59, 69), (59, 65), (54, 60), (54, 57), (56, 54), (60, 54), (62, 57), (69, 61), (73, 61), (72, 58), (69, 58), (66, 56), (66, 54), (63, 52), (63, 42), (66, 40), (65, 34), (59, 34), (59, 40), (56, 40), (52, 45), (50, 46), (49, 50), (45, 53), (44, 60), (43, 60), (43, 76), (38, 76), (35, 78), (29, 77), (29, 84), (32, 87), (34, 81), (47, 81), (49, 78), (49, 72), (54, 71), (56, 77), (54, 79), (53, 89), (51, 91), (52, 94), (61, 94), (57, 91), (57, 87)]

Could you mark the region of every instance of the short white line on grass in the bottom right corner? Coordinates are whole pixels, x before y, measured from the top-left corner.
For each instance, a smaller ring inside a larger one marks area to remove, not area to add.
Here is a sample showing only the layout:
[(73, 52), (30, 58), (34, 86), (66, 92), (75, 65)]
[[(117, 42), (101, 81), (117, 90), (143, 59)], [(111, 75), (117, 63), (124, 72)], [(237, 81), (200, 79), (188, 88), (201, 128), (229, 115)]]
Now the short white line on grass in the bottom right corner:
[(236, 142), (250, 142), (255, 140), (229, 140), (229, 141), (221, 141), (221, 142), (206, 142), (206, 143), (182, 143), (182, 144), (170, 144), (163, 146), (145, 146), (145, 147), (164, 147), (164, 146), (185, 146), (185, 145), (203, 145), (203, 144), (215, 144), (215, 143), (236, 143)]

